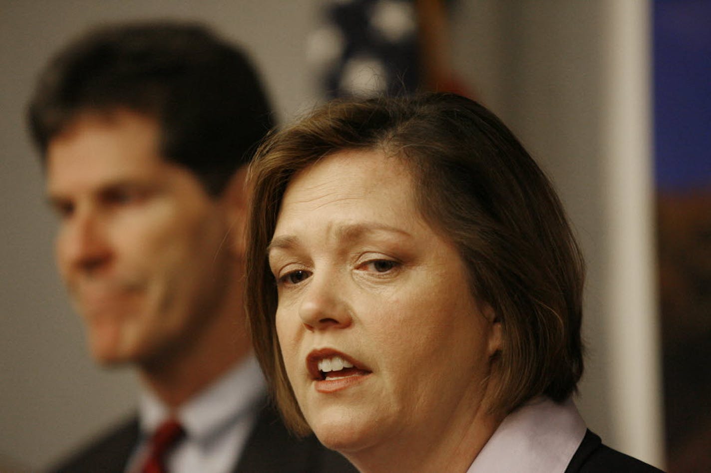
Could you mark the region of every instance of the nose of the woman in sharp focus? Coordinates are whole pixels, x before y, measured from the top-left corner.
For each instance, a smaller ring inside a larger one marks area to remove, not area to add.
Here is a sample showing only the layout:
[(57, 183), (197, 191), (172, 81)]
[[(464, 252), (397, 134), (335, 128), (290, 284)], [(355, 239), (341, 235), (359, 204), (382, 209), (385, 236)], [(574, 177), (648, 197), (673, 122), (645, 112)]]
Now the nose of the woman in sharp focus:
[(299, 317), (311, 332), (351, 325), (351, 308), (338, 279), (326, 274), (311, 276), (299, 306)]

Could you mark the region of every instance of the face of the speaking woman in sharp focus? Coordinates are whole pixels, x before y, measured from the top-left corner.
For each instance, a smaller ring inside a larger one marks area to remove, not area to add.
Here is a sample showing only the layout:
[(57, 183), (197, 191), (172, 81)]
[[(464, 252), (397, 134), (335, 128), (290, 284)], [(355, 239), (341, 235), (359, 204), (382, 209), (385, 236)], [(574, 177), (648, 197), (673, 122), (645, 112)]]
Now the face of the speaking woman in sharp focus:
[(297, 174), (269, 265), (289, 381), (327, 447), (428, 445), (475, 421), (498, 324), (417, 212), (398, 158), (341, 151)]

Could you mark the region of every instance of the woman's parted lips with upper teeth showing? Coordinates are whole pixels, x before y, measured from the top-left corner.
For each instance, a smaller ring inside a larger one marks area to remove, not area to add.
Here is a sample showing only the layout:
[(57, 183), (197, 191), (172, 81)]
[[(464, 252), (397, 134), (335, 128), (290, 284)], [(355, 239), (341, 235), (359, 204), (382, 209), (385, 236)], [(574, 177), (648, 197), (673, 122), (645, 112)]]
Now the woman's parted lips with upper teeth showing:
[(323, 348), (311, 351), (306, 357), (306, 369), (316, 381), (316, 391), (340, 391), (363, 381), (371, 373), (368, 366), (336, 349)]

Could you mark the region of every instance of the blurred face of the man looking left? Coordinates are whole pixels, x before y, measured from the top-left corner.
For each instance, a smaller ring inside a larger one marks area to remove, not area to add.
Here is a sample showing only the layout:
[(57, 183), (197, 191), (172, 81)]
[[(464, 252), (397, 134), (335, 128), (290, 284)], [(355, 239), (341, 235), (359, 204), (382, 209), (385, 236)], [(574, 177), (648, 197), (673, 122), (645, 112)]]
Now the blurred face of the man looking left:
[(159, 155), (154, 119), (87, 114), (48, 146), (61, 276), (102, 364), (185, 349), (233, 295), (225, 202)]

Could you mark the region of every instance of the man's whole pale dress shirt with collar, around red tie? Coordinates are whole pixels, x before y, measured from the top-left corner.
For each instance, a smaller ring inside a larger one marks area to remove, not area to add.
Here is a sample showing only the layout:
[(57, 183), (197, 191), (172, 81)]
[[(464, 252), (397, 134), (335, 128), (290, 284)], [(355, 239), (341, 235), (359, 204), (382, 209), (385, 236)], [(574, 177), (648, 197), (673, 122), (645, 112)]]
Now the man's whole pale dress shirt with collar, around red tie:
[[(239, 461), (255, 424), (266, 384), (255, 357), (249, 357), (196, 398), (181, 406), (177, 420), (186, 437), (170, 453), (171, 473), (228, 473)], [(169, 409), (150, 391), (141, 392), (141, 438), (127, 472), (139, 469), (149, 450), (151, 434), (169, 416)]]

